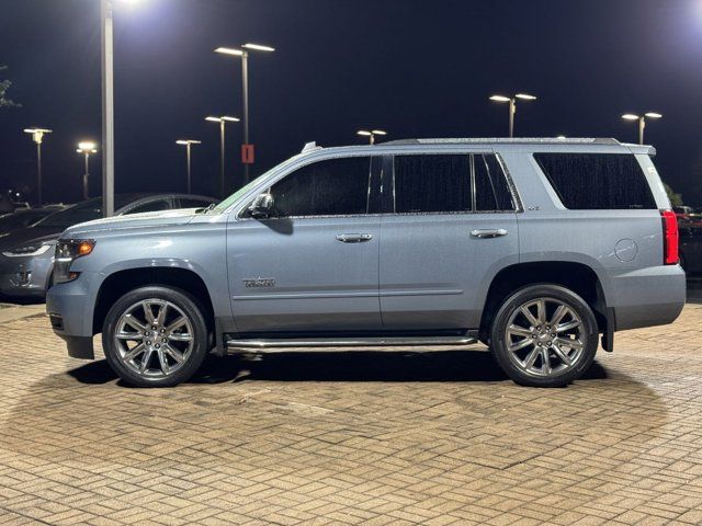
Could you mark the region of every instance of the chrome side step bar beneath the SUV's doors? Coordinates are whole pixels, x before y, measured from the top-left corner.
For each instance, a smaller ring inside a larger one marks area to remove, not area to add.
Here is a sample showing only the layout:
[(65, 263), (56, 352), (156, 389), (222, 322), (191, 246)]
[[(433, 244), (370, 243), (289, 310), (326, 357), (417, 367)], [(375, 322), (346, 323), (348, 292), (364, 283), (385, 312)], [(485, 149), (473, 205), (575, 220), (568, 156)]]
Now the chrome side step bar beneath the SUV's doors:
[(469, 336), (426, 338), (301, 338), (301, 339), (229, 339), (228, 350), (235, 348), (291, 348), (291, 347), (387, 347), (410, 345), (472, 345), (478, 341)]

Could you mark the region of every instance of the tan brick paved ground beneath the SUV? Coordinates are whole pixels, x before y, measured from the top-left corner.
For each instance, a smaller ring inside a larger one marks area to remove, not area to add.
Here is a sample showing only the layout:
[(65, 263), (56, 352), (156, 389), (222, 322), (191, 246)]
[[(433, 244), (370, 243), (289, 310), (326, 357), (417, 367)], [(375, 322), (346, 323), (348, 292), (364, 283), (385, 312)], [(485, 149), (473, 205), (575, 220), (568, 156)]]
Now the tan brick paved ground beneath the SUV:
[(520, 388), (480, 351), (211, 359), (131, 389), (0, 324), (0, 524), (701, 524), (702, 306)]

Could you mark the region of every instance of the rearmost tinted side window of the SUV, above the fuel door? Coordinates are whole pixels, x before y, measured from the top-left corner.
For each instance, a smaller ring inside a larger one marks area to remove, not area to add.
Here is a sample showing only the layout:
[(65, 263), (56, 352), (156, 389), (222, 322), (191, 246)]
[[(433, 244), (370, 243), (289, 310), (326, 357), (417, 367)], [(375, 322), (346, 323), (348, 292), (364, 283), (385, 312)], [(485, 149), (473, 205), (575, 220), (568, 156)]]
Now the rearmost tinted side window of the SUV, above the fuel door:
[(644, 172), (632, 155), (534, 153), (534, 159), (566, 208), (656, 208)]

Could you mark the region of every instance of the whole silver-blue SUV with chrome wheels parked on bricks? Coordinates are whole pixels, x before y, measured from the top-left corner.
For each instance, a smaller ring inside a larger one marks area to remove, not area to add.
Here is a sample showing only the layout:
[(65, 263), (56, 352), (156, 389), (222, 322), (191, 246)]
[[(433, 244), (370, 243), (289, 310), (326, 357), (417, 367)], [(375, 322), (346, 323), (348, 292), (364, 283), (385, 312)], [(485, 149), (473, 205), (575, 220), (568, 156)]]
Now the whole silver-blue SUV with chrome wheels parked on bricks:
[[(648, 146), (415, 139), (303, 152), (212, 209), (69, 228), (47, 310), (70, 356), (173, 386), (214, 350), (486, 343), (563, 386), (684, 304)], [(600, 340), (601, 334), (601, 340)]]

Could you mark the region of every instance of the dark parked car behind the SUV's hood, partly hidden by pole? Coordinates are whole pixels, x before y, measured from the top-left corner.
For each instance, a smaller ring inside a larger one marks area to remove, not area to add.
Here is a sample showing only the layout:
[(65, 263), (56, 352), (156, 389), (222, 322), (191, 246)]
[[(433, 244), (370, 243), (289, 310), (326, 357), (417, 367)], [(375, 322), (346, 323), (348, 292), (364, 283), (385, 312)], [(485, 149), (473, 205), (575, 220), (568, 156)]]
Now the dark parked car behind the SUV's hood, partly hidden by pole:
[[(212, 197), (188, 194), (115, 195), (115, 216), (204, 208)], [(0, 238), (0, 294), (44, 297), (54, 268), (56, 240), (68, 227), (102, 217), (102, 198), (95, 197), (52, 214), (34, 225)]]

